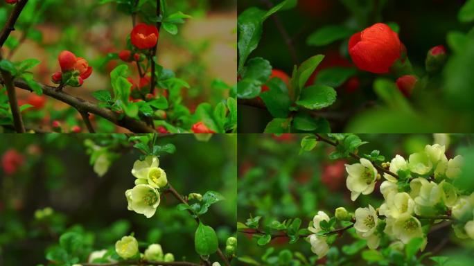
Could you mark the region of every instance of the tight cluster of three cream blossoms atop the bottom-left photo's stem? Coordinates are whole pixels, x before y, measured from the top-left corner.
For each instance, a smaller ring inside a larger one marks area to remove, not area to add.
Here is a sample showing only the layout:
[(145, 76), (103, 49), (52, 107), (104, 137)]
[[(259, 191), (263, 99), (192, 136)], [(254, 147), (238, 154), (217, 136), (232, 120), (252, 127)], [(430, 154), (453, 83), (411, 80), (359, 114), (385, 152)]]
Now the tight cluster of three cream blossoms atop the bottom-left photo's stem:
[(132, 175), (137, 178), (135, 186), (125, 191), (128, 209), (146, 218), (155, 215), (160, 202), (159, 190), (168, 184), (166, 172), (158, 166), (159, 159), (154, 156), (135, 161), (132, 169)]

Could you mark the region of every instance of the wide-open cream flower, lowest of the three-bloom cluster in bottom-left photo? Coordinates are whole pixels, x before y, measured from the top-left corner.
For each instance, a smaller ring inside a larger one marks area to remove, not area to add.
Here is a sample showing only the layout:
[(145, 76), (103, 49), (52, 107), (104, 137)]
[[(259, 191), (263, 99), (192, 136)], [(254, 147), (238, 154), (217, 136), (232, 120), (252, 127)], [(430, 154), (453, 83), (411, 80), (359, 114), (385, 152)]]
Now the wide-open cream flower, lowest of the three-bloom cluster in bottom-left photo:
[(125, 191), (128, 200), (128, 209), (143, 214), (146, 218), (155, 215), (159, 205), (158, 191), (149, 185), (137, 185)]

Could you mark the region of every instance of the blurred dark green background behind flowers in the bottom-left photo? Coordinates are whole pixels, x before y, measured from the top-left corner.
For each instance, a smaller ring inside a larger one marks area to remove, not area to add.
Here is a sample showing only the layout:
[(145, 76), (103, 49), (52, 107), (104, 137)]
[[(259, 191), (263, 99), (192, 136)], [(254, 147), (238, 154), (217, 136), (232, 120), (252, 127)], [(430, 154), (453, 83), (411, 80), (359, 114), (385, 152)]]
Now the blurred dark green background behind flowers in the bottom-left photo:
[[(177, 211), (177, 199), (164, 195), (150, 219), (127, 210), (125, 190), (134, 186), (130, 171), (141, 153), (123, 148), (119, 150), (123, 155), (103, 177), (92, 170), (82, 144), (85, 139), (100, 144), (123, 137), (24, 134), (0, 138), (2, 158), (12, 149), (23, 158), (15, 173), (7, 175), (4, 163), (0, 170), (0, 265), (46, 263), (46, 249), (58, 243), (65, 229), (82, 232), (94, 250), (113, 247), (116, 240), (134, 232), (139, 242), (158, 242), (176, 260), (199, 261), (194, 251), (197, 224), (186, 211)], [(197, 141), (193, 135), (167, 136), (158, 143), (173, 143), (177, 148), (175, 154), (160, 157), (160, 167), (179, 193), (215, 190), (226, 198), (202, 217), (216, 229), (222, 247), (235, 232), (236, 135), (215, 135), (209, 142)], [(35, 211), (45, 207), (55, 214), (35, 218)]]

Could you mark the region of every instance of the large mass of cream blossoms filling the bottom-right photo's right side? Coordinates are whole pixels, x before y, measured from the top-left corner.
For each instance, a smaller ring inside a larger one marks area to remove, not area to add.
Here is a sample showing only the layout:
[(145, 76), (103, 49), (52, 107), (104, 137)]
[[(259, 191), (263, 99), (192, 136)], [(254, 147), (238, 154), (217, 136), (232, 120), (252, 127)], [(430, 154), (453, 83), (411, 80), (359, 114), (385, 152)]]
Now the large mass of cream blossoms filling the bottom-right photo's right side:
[[(405, 245), (413, 238), (426, 235), (422, 225), (427, 222), (454, 220), (453, 229), (459, 238), (474, 239), (474, 193), (462, 195), (453, 186), (459, 177), (463, 158), (448, 159), (444, 145), (426, 145), (423, 152), (411, 154), (408, 160), (396, 155), (390, 163), (383, 163), (385, 181), (380, 185), (385, 201), (378, 209), (369, 205), (358, 208), (353, 215), (347, 215), (344, 208), (335, 212), (337, 220), (351, 220), (357, 235), (367, 240), (367, 247), (376, 249), (380, 236), (385, 233), (397, 245)], [(381, 168), (380, 168), (381, 169)], [(380, 179), (378, 170), (371, 161), (360, 159), (360, 163), (346, 165), (349, 176), (346, 186), (355, 201), (361, 194), (374, 191)], [(397, 178), (398, 177), (398, 178)], [(346, 218), (349, 216), (349, 218)], [(311, 250), (320, 258), (328, 251), (326, 235), (317, 234), (322, 229), (319, 222), (330, 220), (326, 213), (319, 211), (308, 228), (313, 235), (308, 237)]]

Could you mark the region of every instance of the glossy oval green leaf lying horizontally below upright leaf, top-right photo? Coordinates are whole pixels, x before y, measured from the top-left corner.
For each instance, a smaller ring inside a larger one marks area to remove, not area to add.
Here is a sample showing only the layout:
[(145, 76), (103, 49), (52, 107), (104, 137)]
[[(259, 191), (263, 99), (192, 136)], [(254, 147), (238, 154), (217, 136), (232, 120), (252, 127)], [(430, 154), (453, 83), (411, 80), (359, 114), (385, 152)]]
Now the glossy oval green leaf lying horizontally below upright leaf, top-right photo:
[(297, 105), (307, 109), (322, 109), (333, 105), (336, 100), (336, 91), (325, 85), (313, 85), (301, 92)]

